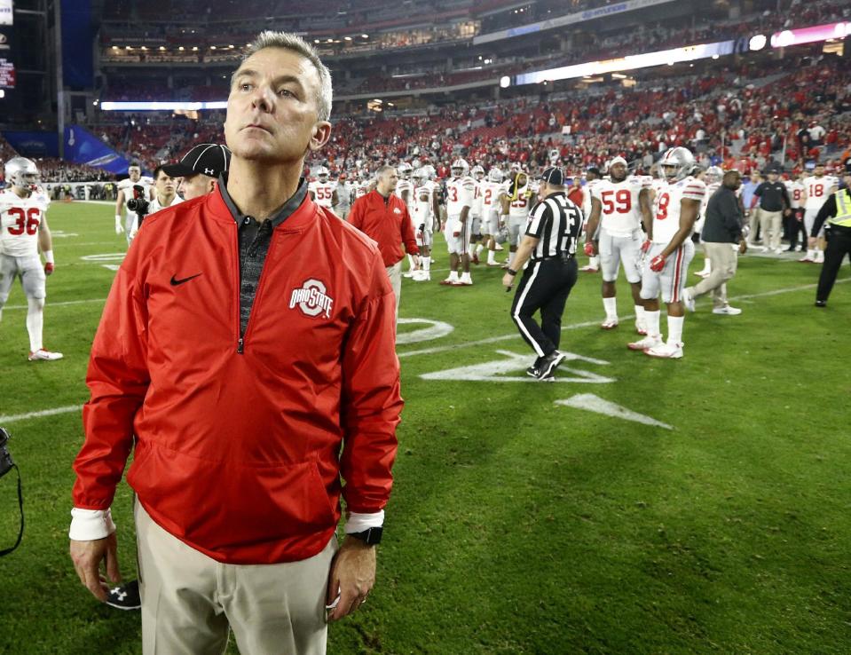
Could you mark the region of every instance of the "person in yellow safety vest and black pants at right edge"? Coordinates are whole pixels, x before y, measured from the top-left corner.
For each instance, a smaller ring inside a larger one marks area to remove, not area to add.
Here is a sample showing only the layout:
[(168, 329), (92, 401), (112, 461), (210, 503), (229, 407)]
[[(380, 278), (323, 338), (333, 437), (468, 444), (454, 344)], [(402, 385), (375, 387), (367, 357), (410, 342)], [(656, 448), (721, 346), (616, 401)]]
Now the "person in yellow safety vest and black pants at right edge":
[(816, 235), (821, 229), (824, 221), (827, 221), (825, 236), (827, 238), (827, 249), (824, 251), (824, 264), (822, 274), (818, 278), (816, 289), (816, 307), (827, 306), (827, 296), (831, 295), (831, 288), (836, 281), (839, 266), (845, 256), (851, 256), (851, 171), (845, 173), (845, 185), (838, 191), (831, 193), (822, 209), (818, 210), (816, 222), (810, 232), (809, 242), (816, 242)]

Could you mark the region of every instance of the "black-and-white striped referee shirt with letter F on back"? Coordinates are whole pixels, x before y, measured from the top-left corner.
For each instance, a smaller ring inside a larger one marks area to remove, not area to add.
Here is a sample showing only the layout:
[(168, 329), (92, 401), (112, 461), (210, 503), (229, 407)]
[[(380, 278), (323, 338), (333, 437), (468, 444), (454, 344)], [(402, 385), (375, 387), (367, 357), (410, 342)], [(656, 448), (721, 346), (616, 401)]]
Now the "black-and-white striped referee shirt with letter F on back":
[(526, 224), (526, 234), (539, 240), (532, 261), (573, 255), (581, 228), (582, 210), (563, 191), (548, 195), (532, 207)]

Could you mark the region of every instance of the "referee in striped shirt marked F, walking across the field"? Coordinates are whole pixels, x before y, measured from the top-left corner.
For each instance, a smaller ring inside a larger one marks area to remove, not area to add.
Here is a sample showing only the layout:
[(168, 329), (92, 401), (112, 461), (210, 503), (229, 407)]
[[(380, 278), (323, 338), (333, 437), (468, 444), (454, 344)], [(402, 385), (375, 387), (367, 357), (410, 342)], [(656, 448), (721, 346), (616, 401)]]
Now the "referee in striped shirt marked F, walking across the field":
[[(561, 169), (550, 167), (540, 177), (540, 198), (532, 207), (523, 241), (502, 284), (514, 286), (526, 261), (520, 284), (511, 304), (511, 318), (526, 343), (538, 355), (526, 374), (541, 382), (555, 382), (556, 367), (565, 355), (558, 351), (562, 335), (562, 313), (567, 296), (576, 284), (576, 241), (582, 227), (582, 211), (564, 193)], [(540, 310), (540, 327), (532, 314)]]

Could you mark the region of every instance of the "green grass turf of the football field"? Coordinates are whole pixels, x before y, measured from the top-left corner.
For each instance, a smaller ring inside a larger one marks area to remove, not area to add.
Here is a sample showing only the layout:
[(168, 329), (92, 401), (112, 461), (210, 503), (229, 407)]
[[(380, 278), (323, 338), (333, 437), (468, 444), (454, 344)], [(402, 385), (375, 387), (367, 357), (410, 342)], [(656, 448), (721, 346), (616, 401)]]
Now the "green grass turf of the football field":
[[(114, 272), (81, 257), (122, 252), (112, 214), (51, 209), (54, 232), (75, 234), (55, 239), (45, 314), (45, 343), (66, 359), (27, 361), (26, 301), (14, 288), (0, 323), (0, 416), (87, 399), (87, 354)], [(609, 363), (566, 362), (560, 375), (614, 381), (540, 384), (421, 377), (504, 359), (497, 351), (532, 359), (501, 271), (480, 266), (474, 287), (444, 288), (446, 262), (438, 245), (431, 283), (403, 284), (402, 318), (454, 329), (398, 348), (406, 408), (378, 582), (362, 612), (331, 627), (329, 652), (851, 651), (847, 267), (816, 310), (818, 267), (745, 256), (729, 284), (744, 313), (714, 316), (698, 301), (679, 361), (626, 350), (635, 336), (621, 281), (620, 327), (565, 329), (562, 340)], [(580, 273), (565, 327), (602, 320), (599, 281)], [(674, 430), (556, 405), (579, 393)], [(0, 559), (0, 653), (139, 652), (138, 613), (94, 601), (67, 556), (79, 412), (6, 426), (28, 525)], [(2, 548), (17, 533), (13, 477), (0, 480), (0, 508)], [(126, 485), (114, 515), (131, 578)]]

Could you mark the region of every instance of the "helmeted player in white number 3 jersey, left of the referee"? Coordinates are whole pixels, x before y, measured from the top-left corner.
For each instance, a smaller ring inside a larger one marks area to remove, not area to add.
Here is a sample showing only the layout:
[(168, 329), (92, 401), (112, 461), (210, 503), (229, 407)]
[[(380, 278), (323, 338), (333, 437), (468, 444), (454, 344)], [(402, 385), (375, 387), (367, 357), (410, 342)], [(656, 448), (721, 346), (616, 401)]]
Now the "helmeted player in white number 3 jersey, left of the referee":
[[(444, 236), (449, 249), (449, 277), (440, 283), (453, 287), (469, 287), (473, 283), (469, 274), (469, 255), (467, 248), (470, 237), (469, 210), (473, 206), (473, 193), (476, 182), (469, 177), (469, 164), (456, 159), (450, 168), (452, 178), (446, 182), (446, 225)], [(463, 272), (461, 277), (458, 269)]]

